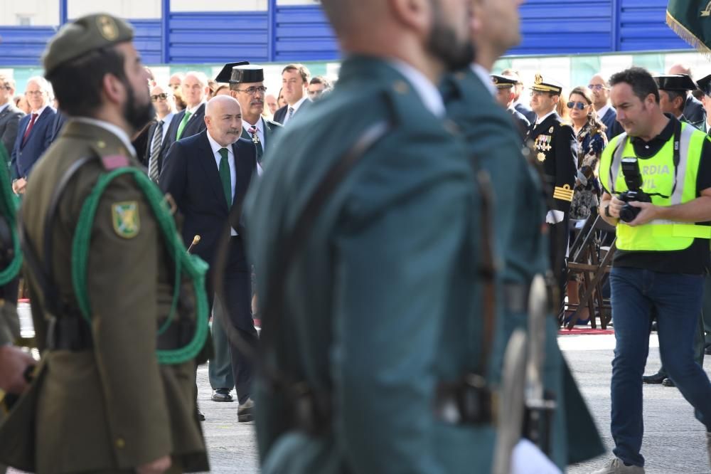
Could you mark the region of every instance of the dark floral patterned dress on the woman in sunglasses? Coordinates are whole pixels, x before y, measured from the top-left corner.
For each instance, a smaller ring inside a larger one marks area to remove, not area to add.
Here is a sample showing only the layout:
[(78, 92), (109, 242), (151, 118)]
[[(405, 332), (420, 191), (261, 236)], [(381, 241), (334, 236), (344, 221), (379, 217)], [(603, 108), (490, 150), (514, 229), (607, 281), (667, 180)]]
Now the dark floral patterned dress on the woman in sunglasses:
[(577, 133), (578, 163), (575, 194), (570, 204), (570, 218), (584, 219), (591, 209), (599, 206), (600, 183), (597, 179), (597, 164), (602, 150), (607, 145), (605, 132), (587, 122)]

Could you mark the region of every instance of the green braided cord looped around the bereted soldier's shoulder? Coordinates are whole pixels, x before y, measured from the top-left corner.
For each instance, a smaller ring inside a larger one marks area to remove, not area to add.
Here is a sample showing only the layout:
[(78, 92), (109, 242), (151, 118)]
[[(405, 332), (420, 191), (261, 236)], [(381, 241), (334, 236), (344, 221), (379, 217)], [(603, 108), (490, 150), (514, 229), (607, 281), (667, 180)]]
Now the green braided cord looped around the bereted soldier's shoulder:
[(196, 357), (203, 348), (208, 336), (208, 298), (205, 293), (205, 273), (208, 270), (208, 264), (198, 256), (187, 253), (176, 229), (173, 216), (165, 207), (164, 196), (153, 181), (137, 168), (119, 168), (102, 174), (82, 206), (72, 243), (72, 282), (76, 291), (79, 310), (87, 323), (91, 324), (91, 302), (87, 287), (87, 263), (92, 226), (94, 225), (96, 210), (102, 194), (109, 183), (122, 174), (132, 174), (139, 188), (146, 196), (169, 247), (171, 258), (175, 263), (176, 276), (173, 283), (173, 302), (168, 319), (158, 331), (159, 335), (171, 325), (175, 317), (181, 288), (181, 270), (184, 270), (193, 281), (197, 309), (196, 331), (193, 339), (186, 346), (178, 349), (159, 349), (156, 351), (160, 364), (182, 364)]

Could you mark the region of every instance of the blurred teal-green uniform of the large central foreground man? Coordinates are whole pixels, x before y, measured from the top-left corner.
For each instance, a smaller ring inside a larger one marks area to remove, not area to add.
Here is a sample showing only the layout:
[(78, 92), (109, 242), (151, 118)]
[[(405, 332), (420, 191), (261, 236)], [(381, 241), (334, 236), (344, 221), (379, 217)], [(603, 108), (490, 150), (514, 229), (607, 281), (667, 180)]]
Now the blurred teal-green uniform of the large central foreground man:
[(348, 58), (328, 100), (284, 131), (248, 196), (247, 247), (268, 305), (276, 296), (267, 282), (282, 271), (276, 254), (304, 201), (372, 136), (366, 131), (392, 127), (316, 218), (286, 282), (288, 311), (271, 334), (264, 313), (269, 367), (332, 409), (309, 435), (289, 417), (294, 399), (262, 372), (255, 420), (263, 473), (456, 473), (491, 456), (479, 448), (491, 426), (434, 414), (437, 387), (476, 367), (481, 349), (474, 171), (464, 142), (425, 107), (403, 68), (413, 74)]

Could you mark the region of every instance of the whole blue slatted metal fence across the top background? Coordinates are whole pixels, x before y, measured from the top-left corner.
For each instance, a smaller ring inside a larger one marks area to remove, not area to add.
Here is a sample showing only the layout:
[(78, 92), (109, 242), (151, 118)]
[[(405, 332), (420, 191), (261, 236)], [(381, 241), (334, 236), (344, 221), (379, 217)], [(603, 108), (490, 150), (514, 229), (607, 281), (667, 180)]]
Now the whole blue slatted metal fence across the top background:
[[(58, 0), (67, 21), (68, 0)], [(528, 0), (520, 8), (523, 41), (516, 55), (613, 53), (689, 49), (665, 24), (667, 0)], [(256, 63), (337, 60), (333, 31), (318, 6), (267, 11), (173, 12), (161, 0), (161, 19), (132, 19), (137, 48), (148, 64)], [(0, 26), (0, 66), (38, 65), (56, 28)]]

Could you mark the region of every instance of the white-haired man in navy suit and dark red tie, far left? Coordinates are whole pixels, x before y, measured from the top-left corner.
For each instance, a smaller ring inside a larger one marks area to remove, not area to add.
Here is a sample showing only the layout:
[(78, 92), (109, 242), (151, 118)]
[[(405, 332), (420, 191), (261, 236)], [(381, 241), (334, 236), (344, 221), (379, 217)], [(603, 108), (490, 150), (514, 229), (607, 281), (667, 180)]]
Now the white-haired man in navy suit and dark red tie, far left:
[(12, 190), (16, 194), (25, 192), (27, 177), (51, 143), (57, 111), (49, 105), (49, 90), (45, 78), (36, 76), (27, 81), (25, 96), (31, 113), (22, 117), (18, 124), (17, 138), (10, 157)]

